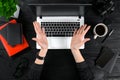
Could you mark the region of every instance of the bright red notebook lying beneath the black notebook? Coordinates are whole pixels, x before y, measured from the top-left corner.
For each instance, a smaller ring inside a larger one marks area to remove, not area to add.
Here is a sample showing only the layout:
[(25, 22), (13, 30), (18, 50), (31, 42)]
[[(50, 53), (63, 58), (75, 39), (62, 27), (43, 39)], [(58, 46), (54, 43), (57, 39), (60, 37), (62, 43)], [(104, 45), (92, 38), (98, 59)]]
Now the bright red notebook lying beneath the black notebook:
[[(5, 28), (7, 26), (7, 24), (9, 24), (9, 23), (15, 24), (16, 20), (11, 20), (10, 22), (2, 25), (0, 27), (0, 30)], [(23, 37), (22, 38), (23, 39), (23, 43), (22, 44), (11, 46), (11, 45), (8, 44), (7, 40), (0, 34), (0, 40), (1, 40), (1, 42), (2, 42), (4, 48), (6, 49), (6, 51), (7, 51), (9, 56), (13, 56), (13, 55), (17, 54), (18, 52), (24, 50), (25, 48), (29, 47), (28, 42), (26, 41), (24, 35), (22, 37)]]

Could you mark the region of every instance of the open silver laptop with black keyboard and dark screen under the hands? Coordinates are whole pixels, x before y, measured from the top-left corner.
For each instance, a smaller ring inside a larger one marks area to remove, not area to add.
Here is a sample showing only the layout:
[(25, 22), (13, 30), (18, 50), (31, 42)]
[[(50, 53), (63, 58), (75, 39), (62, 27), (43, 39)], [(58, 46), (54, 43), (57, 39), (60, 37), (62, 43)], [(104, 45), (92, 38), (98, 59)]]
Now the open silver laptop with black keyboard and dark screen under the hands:
[[(36, 6), (37, 22), (45, 28), (48, 48), (70, 49), (73, 32), (84, 25), (84, 15), (79, 14), (81, 4), (78, 0), (44, 0), (30, 5)], [(40, 49), (37, 43), (36, 48)], [(84, 48), (85, 44), (80, 47)]]

